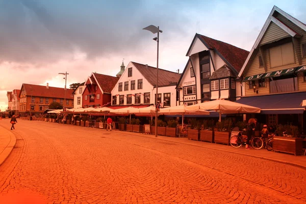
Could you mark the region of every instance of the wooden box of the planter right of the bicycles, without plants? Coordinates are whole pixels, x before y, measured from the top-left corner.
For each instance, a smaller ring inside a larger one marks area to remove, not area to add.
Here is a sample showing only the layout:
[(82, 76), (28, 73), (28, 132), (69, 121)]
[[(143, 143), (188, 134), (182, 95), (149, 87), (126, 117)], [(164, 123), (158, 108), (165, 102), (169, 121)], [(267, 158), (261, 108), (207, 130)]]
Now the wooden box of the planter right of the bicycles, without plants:
[(303, 155), (303, 138), (274, 136), (273, 150), (293, 155)]

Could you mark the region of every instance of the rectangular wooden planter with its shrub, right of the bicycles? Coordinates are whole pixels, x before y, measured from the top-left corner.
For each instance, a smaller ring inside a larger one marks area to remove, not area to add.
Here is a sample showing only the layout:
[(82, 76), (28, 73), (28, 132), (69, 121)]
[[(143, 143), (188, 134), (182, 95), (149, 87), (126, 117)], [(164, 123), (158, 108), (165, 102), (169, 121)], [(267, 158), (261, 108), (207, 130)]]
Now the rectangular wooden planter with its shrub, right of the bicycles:
[(293, 155), (303, 154), (303, 138), (299, 138), (298, 127), (295, 125), (277, 125), (278, 136), (273, 138), (273, 150)]

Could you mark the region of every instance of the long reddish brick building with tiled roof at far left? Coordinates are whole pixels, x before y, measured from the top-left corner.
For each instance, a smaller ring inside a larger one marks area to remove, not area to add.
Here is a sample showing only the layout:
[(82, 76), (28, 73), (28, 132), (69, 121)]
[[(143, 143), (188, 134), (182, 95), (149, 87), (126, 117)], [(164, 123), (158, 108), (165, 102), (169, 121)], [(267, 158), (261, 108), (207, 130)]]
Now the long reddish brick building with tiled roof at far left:
[(19, 97), (19, 114), (21, 116), (40, 115), (53, 102), (58, 102), (65, 108), (73, 108), (73, 90), (57, 87), (22, 84)]

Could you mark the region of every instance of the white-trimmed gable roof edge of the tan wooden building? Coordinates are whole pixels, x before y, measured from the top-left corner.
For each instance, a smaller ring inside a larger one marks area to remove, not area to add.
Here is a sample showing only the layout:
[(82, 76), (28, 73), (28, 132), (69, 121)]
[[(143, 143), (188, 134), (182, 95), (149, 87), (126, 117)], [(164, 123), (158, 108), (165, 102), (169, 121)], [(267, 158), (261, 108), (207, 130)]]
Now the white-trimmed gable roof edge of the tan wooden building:
[(306, 24), (302, 23), (301, 21), (297, 20), (296, 18), (292, 17), (291, 15), (289, 15), (288, 13), (284, 12), (282, 9), (279, 9), (278, 7), (274, 6), (272, 11), (270, 12), (261, 32), (259, 33), (247, 59), (245, 60), (242, 69), (239, 72), (239, 77), (241, 77), (242, 73), (245, 70), (245, 67), (248, 65), (248, 62), (250, 61), (251, 57), (254, 53), (254, 50), (258, 48), (259, 43), (261, 42), (264, 34), (266, 33), (267, 28), (269, 27), (271, 22), (274, 22), (275, 24), (278, 25), (279, 28), (283, 29), (284, 31), (286, 31), (289, 35), (291, 35), (292, 37), (299, 37), (300, 34), (298, 32), (296, 32), (294, 29), (292, 29), (291, 27), (289, 27), (287, 24), (285, 24), (283, 21), (279, 20), (278, 18), (275, 18), (273, 16), (274, 12), (278, 12), (279, 14), (283, 15), (284, 17), (286, 17), (288, 20), (290, 20), (291, 22), (293, 22), (295, 25), (297, 25), (300, 29), (306, 31)]

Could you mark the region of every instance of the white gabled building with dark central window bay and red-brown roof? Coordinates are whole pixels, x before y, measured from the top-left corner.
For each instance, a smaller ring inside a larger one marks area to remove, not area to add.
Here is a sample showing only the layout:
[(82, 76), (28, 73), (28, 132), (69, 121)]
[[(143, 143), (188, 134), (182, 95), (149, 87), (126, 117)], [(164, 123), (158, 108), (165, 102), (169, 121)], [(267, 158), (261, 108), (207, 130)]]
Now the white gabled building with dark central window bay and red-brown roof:
[(195, 34), (186, 56), (189, 60), (177, 84), (180, 105), (217, 98), (235, 101), (243, 92), (238, 73), (248, 51)]

